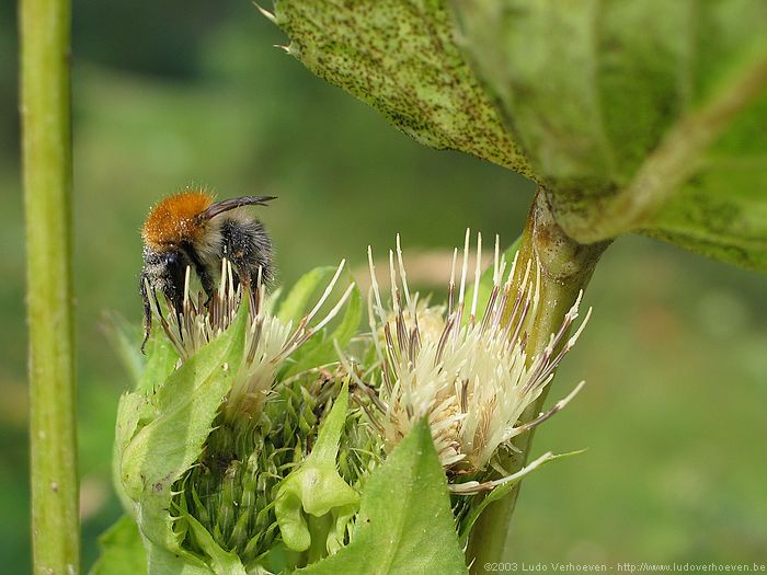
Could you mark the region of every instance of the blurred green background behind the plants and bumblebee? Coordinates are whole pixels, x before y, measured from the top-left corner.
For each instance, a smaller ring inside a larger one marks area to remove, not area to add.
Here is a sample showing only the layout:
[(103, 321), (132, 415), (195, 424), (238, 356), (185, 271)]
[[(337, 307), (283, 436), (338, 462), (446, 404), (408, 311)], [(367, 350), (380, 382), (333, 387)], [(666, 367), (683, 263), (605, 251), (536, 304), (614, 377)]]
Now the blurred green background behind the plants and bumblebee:
[[(75, 2), (75, 279), (83, 561), (119, 515), (113, 422), (127, 377), (104, 312), (140, 319), (139, 227), (187, 183), (279, 196), (262, 211), (281, 279), (402, 233), (444, 285), (466, 227), (510, 243), (533, 186), (422, 148), (275, 49), (247, 1)], [(0, 565), (30, 571), (15, 13), (0, 3)], [(588, 447), (523, 488), (510, 561), (765, 561), (767, 277), (651, 240), (606, 253), (592, 323), (551, 394), (587, 387), (536, 451)]]

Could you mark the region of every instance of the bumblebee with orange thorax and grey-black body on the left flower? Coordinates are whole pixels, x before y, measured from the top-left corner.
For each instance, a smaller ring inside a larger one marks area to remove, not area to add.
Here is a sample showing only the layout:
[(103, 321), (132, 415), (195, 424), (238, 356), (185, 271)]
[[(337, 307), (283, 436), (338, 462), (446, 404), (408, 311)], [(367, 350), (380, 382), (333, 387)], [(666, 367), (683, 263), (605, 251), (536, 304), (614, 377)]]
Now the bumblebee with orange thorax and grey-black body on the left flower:
[[(181, 313), (186, 268), (197, 274), (208, 297), (222, 258), (231, 262), (237, 283), (250, 285), (256, 278), (273, 278), (272, 240), (264, 226), (243, 206), (265, 206), (274, 196), (244, 196), (215, 202), (204, 189), (186, 189), (154, 206), (141, 229), (144, 267), (140, 292), (144, 300), (144, 342), (152, 327), (150, 296), (165, 296)], [(158, 306), (159, 308), (159, 306)]]

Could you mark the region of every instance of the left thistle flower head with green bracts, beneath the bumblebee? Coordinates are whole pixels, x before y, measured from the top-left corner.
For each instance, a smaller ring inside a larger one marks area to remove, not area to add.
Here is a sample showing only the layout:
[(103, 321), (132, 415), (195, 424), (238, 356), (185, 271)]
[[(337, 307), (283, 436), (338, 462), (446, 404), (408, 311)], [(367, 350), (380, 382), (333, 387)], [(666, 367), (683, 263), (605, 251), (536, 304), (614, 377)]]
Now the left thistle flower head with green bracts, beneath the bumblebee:
[[(334, 359), (318, 354), (320, 343), (299, 353), (355, 294), (350, 284), (328, 303), (343, 268), (341, 262), (305, 315), (296, 301), (308, 301), (324, 272), (312, 276), (311, 289), (304, 284), (299, 297), (289, 294), (291, 309), (284, 306), (282, 314), (272, 310), (261, 281), (236, 284), (227, 261), (210, 301), (192, 296), (187, 271), (179, 313), (163, 314), (152, 302), (179, 360), (165, 381), (123, 398), (116, 441), (121, 487), (149, 553), (179, 564), (226, 556), (232, 565), (260, 568), (279, 537), (276, 488), (302, 463), (341, 388), (340, 378), (318, 373)], [(286, 378), (298, 356), (307, 370)], [(340, 451), (347, 461), (342, 472), (362, 470), (343, 441)], [(335, 462), (331, 467), (337, 473)]]

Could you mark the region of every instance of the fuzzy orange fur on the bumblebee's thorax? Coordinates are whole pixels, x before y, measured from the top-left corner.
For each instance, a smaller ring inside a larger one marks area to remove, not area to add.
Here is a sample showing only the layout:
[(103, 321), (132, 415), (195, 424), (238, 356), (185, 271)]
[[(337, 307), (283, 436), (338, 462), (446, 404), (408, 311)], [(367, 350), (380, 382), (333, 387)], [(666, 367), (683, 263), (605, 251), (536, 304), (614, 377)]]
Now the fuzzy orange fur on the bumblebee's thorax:
[(144, 223), (144, 241), (153, 246), (194, 241), (203, 231), (195, 217), (213, 204), (206, 192), (182, 192), (152, 208)]

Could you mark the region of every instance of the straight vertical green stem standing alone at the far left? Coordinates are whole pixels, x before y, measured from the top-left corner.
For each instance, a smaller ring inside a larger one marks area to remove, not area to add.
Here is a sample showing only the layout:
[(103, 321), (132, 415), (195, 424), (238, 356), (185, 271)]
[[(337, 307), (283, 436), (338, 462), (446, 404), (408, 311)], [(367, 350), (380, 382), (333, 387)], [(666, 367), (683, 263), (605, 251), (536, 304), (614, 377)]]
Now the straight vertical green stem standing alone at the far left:
[(36, 574), (80, 571), (71, 281), (69, 0), (22, 0), (21, 117)]

